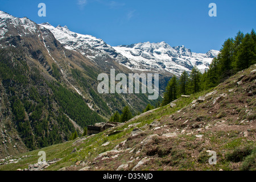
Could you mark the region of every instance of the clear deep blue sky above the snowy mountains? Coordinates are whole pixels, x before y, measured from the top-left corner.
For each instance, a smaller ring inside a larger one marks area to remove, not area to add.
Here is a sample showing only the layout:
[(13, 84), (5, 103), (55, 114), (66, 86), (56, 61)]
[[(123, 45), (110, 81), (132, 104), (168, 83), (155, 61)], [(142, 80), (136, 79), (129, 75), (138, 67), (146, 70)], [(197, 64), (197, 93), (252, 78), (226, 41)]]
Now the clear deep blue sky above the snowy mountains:
[[(46, 17), (38, 16), (41, 2)], [(209, 3), (216, 3), (217, 17), (208, 15)], [(256, 29), (255, 0), (1, 0), (0, 10), (36, 23), (66, 25), (111, 46), (164, 41), (201, 53), (220, 49), (239, 30)]]

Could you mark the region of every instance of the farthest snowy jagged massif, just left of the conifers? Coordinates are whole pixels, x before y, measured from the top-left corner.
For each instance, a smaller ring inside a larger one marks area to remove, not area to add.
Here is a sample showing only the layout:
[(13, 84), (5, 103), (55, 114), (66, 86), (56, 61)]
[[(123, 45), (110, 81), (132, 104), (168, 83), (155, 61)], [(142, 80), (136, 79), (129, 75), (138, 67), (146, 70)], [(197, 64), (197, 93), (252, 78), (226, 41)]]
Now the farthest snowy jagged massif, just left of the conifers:
[(138, 43), (130, 46), (118, 46), (114, 49), (129, 59), (126, 67), (131, 69), (167, 71), (179, 76), (184, 70), (190, 72), (193, 67), (202, 72), (208, 69), (213, 57), (219, 51), (195, 53), (184, 46), (171, 47), (165, 42)]

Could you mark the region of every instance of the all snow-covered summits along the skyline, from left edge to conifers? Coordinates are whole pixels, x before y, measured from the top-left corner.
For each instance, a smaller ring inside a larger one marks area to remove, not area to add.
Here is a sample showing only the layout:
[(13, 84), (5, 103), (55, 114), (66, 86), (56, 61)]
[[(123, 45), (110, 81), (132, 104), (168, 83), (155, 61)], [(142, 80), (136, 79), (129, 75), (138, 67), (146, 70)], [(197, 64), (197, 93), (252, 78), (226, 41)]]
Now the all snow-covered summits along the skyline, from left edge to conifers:
[(214, 50), (195, 53), (184, 46), (171, 47), (165, 42), (112, 47), (104, 40), (92, 35), (72, 32), (67, 26), (53, 27), (49, 23), (36, 24), (26, 17), (16, 18), (3, 11), (0, 11), (0, 20), (0, 39), (7, 30), (10, 34), (10, 29), (11, 32), (15, 32), (15, 35), (26, 36), (32, 32), (39, 36), (40, 30), (46, 28), (66, 49), (80, 52), (101, 67), (106, 67), (110, 59), (133, 71), (156, 71), (180, 76), (184, 70), (190, 72), (195, 66), (204, 72), (208, 69), (213, 57), (219, 53)]

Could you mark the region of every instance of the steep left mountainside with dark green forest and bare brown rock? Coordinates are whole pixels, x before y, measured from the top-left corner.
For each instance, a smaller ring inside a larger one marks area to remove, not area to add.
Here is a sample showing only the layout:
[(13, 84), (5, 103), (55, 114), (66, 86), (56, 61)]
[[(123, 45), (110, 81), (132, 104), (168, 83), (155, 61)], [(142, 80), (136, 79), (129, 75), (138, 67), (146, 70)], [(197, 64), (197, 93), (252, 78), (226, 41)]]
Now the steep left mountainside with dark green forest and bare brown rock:
[(0, 11), (0, 157), (67, 141), (126, 105), (138, 113), (155, 104), (147, 94), (99, 94), (98, 74), (129, 69), (88, 47), (96, 59), (65, 48), (44, 26)]

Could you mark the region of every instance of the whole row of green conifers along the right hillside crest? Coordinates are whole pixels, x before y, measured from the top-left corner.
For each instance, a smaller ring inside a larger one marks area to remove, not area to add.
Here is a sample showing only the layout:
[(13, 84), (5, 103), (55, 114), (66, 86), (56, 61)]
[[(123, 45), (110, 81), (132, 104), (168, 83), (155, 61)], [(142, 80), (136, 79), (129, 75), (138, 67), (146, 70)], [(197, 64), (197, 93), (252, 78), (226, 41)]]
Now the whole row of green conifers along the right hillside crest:
[(224, 42), (220, 53), (214, 57), (207, 71), (201, 73), (194, 67), (190, 74), (184, 71), (179, 79), (176, 76), (172, 77), (167, 84), (161, 105), (167, 105), (181, 95), (190, 95), (217, 86), (255, 63), (255, 31), (252, 30), (250, 34), (245, 35), (239, 31), (235, 38), (229, 38)]

